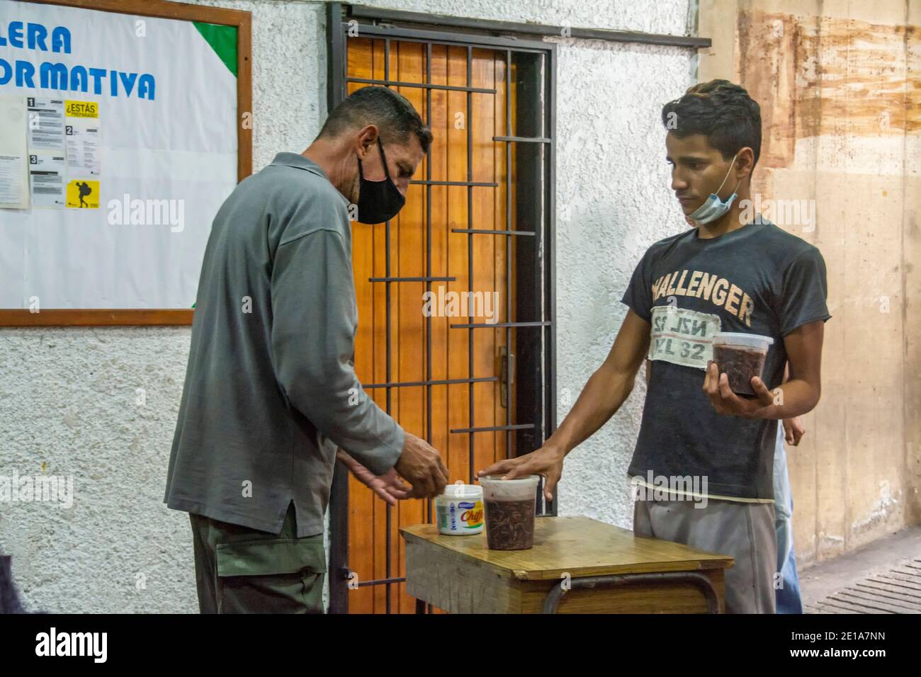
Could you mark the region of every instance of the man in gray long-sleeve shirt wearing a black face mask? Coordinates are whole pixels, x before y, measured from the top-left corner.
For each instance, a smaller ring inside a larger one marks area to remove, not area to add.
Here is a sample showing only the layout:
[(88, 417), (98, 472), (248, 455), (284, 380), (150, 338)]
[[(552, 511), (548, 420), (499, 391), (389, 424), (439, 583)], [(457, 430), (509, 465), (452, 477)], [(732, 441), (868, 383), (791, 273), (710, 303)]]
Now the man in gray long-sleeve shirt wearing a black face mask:
[(164, 499), (190, 513), (202, 613), (322, 612), (337, 447), (390, 496), (447, 484), (437, 451), (367, 397), (353, 359), (350, 217), (396, 216), (431, 138), (400, 94), (358, 89), (215, 217)]

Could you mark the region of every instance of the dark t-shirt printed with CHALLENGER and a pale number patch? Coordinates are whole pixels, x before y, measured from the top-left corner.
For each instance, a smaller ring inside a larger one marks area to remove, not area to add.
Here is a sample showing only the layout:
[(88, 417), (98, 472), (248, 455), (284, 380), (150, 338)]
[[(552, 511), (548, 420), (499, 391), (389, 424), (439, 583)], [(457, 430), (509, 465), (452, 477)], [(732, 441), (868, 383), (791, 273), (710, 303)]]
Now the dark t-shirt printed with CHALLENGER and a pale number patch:
[(716, 332), (770, 336), (762, 378), (784, 377), (783, 337), (831, 315), (825, 262), (810, 243), (755, 222), (717, 238), (697, 228), (659, 240), (636, 266), (624, 303), (650, 323), (651, 373), (627, 473), (706, 477), (707, 494), (774, 497), (775, 420), (717, 414), (705, 392)]

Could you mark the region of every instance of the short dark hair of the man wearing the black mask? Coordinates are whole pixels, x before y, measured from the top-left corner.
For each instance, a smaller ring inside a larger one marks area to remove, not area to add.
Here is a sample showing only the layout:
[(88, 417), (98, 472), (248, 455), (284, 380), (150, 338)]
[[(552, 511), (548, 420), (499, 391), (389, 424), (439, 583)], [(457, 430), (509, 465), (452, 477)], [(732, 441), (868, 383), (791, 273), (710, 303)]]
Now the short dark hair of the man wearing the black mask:
[(367, 124), (376, 124), (382, 140), (388, 143), (405, 144), (410, 134), (415, 134), (423, 153), (432, 143), (432, 131), (409, 100), (390, 88), (374, 86), (356, 89), (340, 101), (323, 123), (318, 138), (338, 136)]

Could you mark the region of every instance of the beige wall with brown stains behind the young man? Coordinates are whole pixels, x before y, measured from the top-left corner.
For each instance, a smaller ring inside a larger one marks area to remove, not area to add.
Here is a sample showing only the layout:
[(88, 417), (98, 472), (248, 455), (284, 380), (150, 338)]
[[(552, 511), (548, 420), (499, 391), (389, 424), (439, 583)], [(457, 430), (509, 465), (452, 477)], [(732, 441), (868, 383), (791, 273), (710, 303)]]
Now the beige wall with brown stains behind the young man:
[(822, 401), (787, 448), (803, 564), (921, 521), (919, 24), (916, 0), (700, 3), (698, 79), (761, 104), (752, 193), (814, 201), (778, 225), (828, 268)]

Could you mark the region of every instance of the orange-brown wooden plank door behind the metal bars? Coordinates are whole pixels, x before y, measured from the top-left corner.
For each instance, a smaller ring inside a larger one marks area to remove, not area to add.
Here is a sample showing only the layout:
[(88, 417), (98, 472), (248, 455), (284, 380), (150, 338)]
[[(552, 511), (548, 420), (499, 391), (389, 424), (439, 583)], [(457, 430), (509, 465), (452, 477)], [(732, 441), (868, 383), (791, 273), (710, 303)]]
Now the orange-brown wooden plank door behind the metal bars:
[[(506, 141), (494, 140), (510, 134), (507, 119), (514, 119), (507, 111), (507, 52), (415, 41), (387, 45), (375, 38), (347, 41), (348, 78), (423, 84), (429, 68), (432, 84), (465, 89), (395, 86), (429, 123), (434, 141), (399, 216), (389, 224), (352, 225), (359, 317), (355, 362), (369, 396), (440, 451), (449, 482), (470, 483), (477, 470), (514, 455), (515, 445), (507, 429), (461, 431), (502, 428), (516, 420), (514, 398), (505, 398), (509, 406), (503, 405), (500, 375), (503, 350), (511, 346), (515, 353), (517, 330), (501, 323), (515, 321), (514, 289), (508, 285), (515, 279), (517, 238), (456, 232), (514, 228), (514, 189), (508, 193), (514, 158)], [(346, 91), (366, 84), (347, 81)], [(426, 317), (428, 290), (435, 294), (435, 314)], [(450, 310), (450, 295), (470, 291), (481, 293), (480, 316), (469, 316), (463, 303), (459, 315), (438, 313), (440, 298), (443, 309)], [(488, 324), (489, 310), (500, 326), (451, 326)], [(439, 382), (445, 380), (456, 382)], [(426, 381), (434, 383), (393, 385)], [(433, 510), (424, 500), (390, 508), (349, 478), (347, 566), (358, 583), (348, 592), (350, 613), (414, 612), (415, 600), (399, 581), (404, 562), (398, 529), (432, 521)]]

